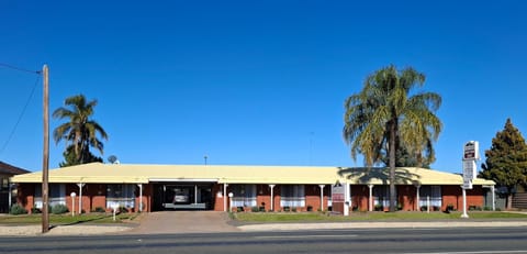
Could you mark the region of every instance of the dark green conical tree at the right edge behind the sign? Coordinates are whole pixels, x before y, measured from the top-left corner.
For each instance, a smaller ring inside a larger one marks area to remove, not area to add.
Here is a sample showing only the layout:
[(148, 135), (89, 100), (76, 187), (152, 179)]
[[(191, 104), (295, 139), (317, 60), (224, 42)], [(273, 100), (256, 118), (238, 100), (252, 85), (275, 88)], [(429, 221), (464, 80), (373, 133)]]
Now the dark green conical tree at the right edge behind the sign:
[(507, 119), (505, 129), (492, 139), (492, 146), (485, 151), (485, 157), (480, 176), (507, 188), (507, 209), (511, 209), (513, 189), (527, 183), (527, 144), (511, 119)]

